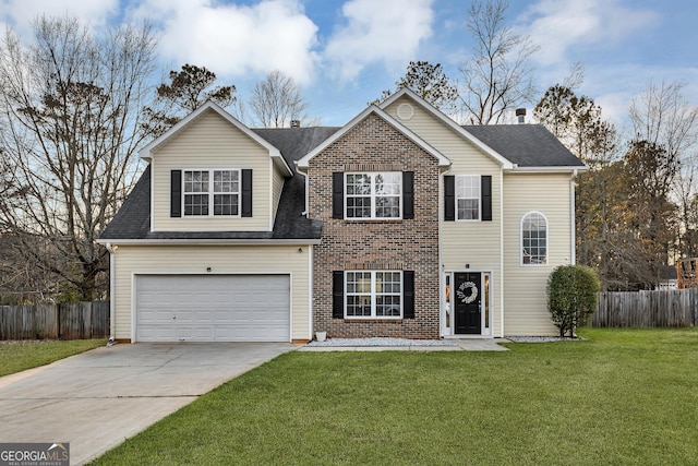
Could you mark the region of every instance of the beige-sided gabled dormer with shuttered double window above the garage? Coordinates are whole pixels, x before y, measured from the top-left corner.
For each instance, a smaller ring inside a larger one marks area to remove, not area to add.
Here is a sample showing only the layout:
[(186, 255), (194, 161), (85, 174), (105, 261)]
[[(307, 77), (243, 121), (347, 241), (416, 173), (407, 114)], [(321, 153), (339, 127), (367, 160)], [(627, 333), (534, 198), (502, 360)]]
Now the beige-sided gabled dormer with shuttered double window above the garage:
[(151, 231), (272, 231), (292, 170), (278, 148), (213, 101), (146, 145)]

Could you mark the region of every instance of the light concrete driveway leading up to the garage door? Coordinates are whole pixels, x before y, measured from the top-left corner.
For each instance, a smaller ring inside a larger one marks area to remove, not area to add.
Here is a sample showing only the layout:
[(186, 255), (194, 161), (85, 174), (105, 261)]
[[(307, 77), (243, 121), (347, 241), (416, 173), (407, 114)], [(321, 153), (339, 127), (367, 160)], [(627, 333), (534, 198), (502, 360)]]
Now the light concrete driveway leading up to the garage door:
[(71, 465), (83, 464), (298, 347), (120, 344), (0, 378), (0, 442), (70, 442)]

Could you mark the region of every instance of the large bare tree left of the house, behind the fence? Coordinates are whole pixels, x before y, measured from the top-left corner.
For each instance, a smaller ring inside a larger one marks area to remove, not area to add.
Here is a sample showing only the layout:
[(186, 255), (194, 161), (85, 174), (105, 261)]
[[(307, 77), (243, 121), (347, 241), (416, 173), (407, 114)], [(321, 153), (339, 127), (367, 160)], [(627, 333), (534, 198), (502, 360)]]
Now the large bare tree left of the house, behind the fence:
[[(93, 299), (108, 253), (95, 240), (135, 176), (147, 134), (141, 109), (153, 95), (156, 40), (147, 25), (96, 37), (72, 17), (39, 17), (24, 47), (0, 44), (0, 144), (15, 183), (0, 200), (0, 228), (58, 291)], [(104, 288), (101, 288), (104, 290)]]

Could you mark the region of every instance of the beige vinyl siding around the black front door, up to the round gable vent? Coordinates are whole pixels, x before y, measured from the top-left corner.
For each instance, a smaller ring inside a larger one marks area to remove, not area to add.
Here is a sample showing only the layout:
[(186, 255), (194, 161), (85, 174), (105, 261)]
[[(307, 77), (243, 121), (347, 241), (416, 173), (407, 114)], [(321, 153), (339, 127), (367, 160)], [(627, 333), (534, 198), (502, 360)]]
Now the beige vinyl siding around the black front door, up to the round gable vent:
[[(401, 120), (397, 116), (400, 104), (410, 104), (414, 110), (412, 118)], [(444, 272), (465, 272), (466, 264), (470, 265), (470, 272), (490, 272), (492, 274), (491, 292), (492, 330), (494, 336), (501, 336), (501, 167), (494, 160), (472, 143), (457, 134), (452, 128), (438, 121), (433, 115), (422, 109), (421, 106), (402, 97), (393, 103), (387, 112), (400, 123), (408, 127), (430, 145), (444, 154), (452, 162), (450, 169), (445, 175), (489, 175), (492, 176), (492, 222), (444, 222), (443, 212), (443, 183), (441, 220), (441, 256)]]

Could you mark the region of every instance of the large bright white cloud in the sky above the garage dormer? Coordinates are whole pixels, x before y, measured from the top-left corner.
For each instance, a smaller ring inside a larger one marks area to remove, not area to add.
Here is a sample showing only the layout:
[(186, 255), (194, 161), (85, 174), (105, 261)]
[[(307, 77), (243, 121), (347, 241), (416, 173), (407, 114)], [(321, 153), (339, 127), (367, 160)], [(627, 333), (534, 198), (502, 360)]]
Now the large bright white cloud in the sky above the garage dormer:
[(129, 15), (161, 19), (160, 52), (178, 65), (192, 63), (229, 76), (278, 69), (299, 84), (313, 77), (317, 26), (298, 0), (264, 0), (250, 7), (145, 0)]

